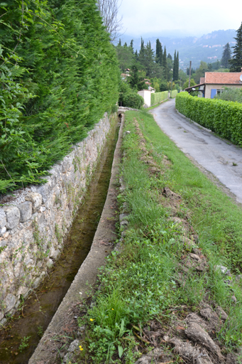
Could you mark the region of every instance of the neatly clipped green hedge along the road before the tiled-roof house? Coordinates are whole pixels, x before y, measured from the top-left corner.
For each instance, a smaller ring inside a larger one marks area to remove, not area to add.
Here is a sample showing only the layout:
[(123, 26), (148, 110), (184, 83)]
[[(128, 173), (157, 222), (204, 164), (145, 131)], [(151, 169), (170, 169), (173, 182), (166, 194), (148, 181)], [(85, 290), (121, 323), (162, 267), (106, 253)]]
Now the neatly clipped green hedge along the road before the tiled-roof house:
[(194, 122), (242, 146), (242, 105), (238, 102), (204, 99), (180, 92), (175, 106)]

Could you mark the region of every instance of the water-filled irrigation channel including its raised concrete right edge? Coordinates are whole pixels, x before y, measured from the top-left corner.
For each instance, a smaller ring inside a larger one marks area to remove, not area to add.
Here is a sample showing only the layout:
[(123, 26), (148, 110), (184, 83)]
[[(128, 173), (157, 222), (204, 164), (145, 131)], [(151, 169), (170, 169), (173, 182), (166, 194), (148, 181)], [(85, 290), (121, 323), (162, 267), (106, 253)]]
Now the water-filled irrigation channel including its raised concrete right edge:
[[(72, 329), (77, 329), (75, 307), (87, 298), (88, 287), (95, 282), (116, 240), (114, 212), (123, 119), (106, 142), (55, 267), (0, 331), (1, 364), (55, 363), (56, 338), (71, 336)], [(24, 337), (28, 347), (21, 351)]]

